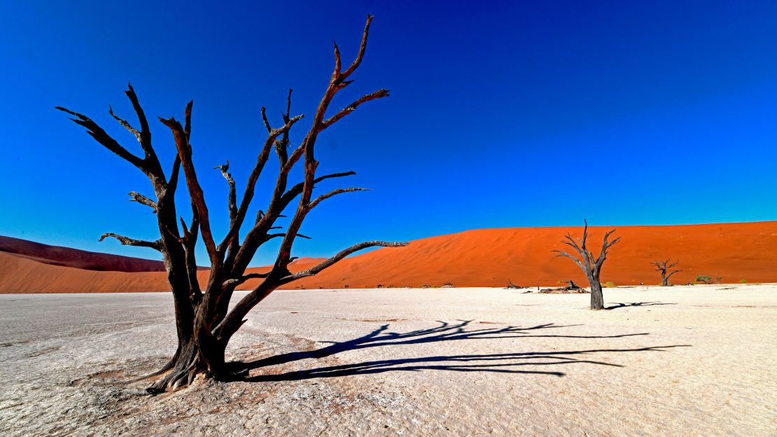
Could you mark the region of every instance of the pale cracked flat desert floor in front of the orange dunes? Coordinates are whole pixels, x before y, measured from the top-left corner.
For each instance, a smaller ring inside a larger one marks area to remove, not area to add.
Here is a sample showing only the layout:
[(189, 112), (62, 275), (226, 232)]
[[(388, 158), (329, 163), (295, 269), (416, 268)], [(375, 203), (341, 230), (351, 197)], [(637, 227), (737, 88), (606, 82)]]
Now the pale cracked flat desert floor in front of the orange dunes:
[(0, 435), (777, 435), (777, 285), (522, 292), (276, 292), (158, 396), (169, 294), (0, 295)]

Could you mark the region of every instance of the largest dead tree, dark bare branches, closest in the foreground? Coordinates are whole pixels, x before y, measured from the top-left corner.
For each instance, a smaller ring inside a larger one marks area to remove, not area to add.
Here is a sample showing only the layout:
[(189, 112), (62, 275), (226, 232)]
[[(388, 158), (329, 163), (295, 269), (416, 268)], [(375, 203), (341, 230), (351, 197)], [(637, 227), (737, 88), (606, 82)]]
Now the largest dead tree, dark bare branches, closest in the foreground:
[[(155, 200), (134, 191), (130, 193), (130, 196), (131, 200), (152, 208), (156, 213), (159, 239), (141, 241), (114, 233), (106, 233), (100, 237), (100, 240), (112, 237), (125, 245), (150, 247), (158, 250), (162, 253), (165, 262), (167, 278), (174, 297), (178, 348), (175, 355), (162, 369), (150, 375), (159, 377), (149, 388), (150, 391), (175, 390), (180, 386), (190, 384), (198, 375), (216, 379), (228, 376), (225, 371), (225, 348), (230, 338), (246, 322), (246, 315), (249, 311), (275, 289), (287, 285), (291, 281), (313, 276), (357, 250), (373, 246), (406, 245), (406, 243), (383, 241), (359, 243), (336, 253), (315, 267), (296, 273), (289, 271), (289, 264), (293, 259), (291, 249), (295, 239), (298, 237), (306, 238), (299, 231), (308, 214), (322, 201), (332, 198), (336, 194), (364, 190), (364, 188), (340, 188), (313, 197), (315, 184), (322, 180), (355, 174), (347, 172), (317, 176), (316, 168), (319, 162), (315, 159), (314, 146), (316, 138), (322, 131), (346, 117), (362, 103), (389, 96), (389, 90), (378, 89), (375, 93), (361, 96), (333, 115), (326, 116), (333, 97), (354, 82), (350, 76), (356, 72), (364, 58), (371, 20), (372, 17), (368, 16), (357, 56), (345, 68), (340, 60), (340, 49), (335, 44), (334, 71), (326, 86), (326, 92), (319, 106), (315, 109), (312, 126), (300, 145), (296, 148), (290, 148), (289, 131), (303, 117), (302, 115), (291, 116), (291, 90), (289, 91), (286, 111), (283, 113), (283, 125), (280, 127), (271, 127), (265, 110), (262, 108), (263, 123), (267, 128), (267, 139), (261, 146), (256, 165), (248, 177), (245, 192), (239, 203), (235, 193), (235, 180), (228, 172), (228, 163), (216, 167), (221, 170), (227, 180), (229, 191), (229, 227), (220, 242), (217, 242), (211, 232), (210, 212), (205, 204), (203, 189), (197, 180), (197, 172), (192, 159), (192, 145), (190, 143), (192, 102), (186, 105), (183, 124), (174, 117), (159, 118), (159, 121), (172, 132), (172, 138), (176, 145), (176, 156), (169, 173), (165, 173), (159, 163), (157, 152), (152, 146), (152, 135), (148, 121), (132, 86), (129, 86), (126, 94), (138, 116), (139, 127), (135, 128), (128, 121), (113, 114), (112, 109), (109, 109), (109, 114), (127, 131), (130, 131), (135, 138), (138, 138), (143, 151), (142, 156), (136, 156), (127, 151), (89, 117), (57, 107), (57, 109), (71, 114), (73, 116), (71, 120), (85, 127), (89, 135), (92, 135), (106, 149), (138, 167), (138, 170), (141, 170), (151, 181), (154, 189)], [(280, 172), (275, 180), (271, 200), (263, 212), (260, 211), (256, 214), (255, 220), (247, 222), (246, 218), (249, 215), (256, 182), (273, 151), (277, 155)], [(304, 179), (290, 187), (288, 184), (289, 173), (298, 163), (304, 167)], [(183, 218), (180, 218), (180, 228), (175, 203), (179, 179), (183, 179), (186, 184), (192, 208), (191, 222), (187, 225)], [(297, 198), (299, 200), (287, 229), (285, 232), (277, 232), (275, 230), (278, 229), (278, 226), (275, 225), (277, 218), (284, 216), (284, 211)], [(241, 231), (246, 228), (248, 230), (241, 240)], [(195, 244), (200, 238), (207, 250), (211, 266), (207, 283), (204, 286), (200, 285), (197, 280), (197, 260), (194, 255)], [(246, 274), (246, 267), (248, 267), (256, 250), (270, 239), (280, 239), (280, 249), (270, 271), (263, 274)], [(229, 310), (229, 302), (235, 288), (251, 278), (262, 278), (263, 281)]]

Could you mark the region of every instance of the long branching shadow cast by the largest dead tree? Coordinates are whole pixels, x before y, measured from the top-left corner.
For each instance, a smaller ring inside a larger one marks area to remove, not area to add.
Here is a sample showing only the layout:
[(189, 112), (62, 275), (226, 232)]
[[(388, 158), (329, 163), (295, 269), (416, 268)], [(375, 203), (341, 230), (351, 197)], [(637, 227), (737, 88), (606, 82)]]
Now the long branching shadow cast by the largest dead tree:
[[(580, 325), (556, 325), (545, 323), (534, 327), (502, 327), (467, 329), (472, 320), (458, 320), (457, 323), (439, 321), (439, 326), (428, 329), (412, 330), (405, 333), (389, 332), (389, 325), (385, 324), (362, 337), (348, 341), (321, 341), (332, 343), (325, 348), (312, 351), (298, 351), (286, 354), (261, 358), (253, 362), (230, 362), (229, 372), (236, 379), (249, 382), (264, 381), (289, 381), (312, 378), (329, 378), (334, 376), (365, 375), (393, 371), (421, 371), (421, 370), (448, 370), (455, 372), (500, 372), (500, 373), (527, 373), (549, 376), (564, 376), (564, 372), (557, 370), (520, 369), (521, 366), (531, 365), (570, 365), (570, 364), (594, 364), (622, 367), (622, 365), (609, 362), (584, 359), (581, 355), (590, 355), (597, 352), (638, 352), (638, 351), (664, 351), (668, 348), (689, 346), (688, 344), (675, 344), (671, 346), (651, 346), (645, 348), (601, 348), (570, 351), (536, 351), (515, 352), (502, 354), (483, 355), (438, 355), (420, 358), (395, 358), (388, 360), (358, 362), (344, 365), (331, 365), (315, 369), (304, 369), (277, 374), (263, 374), (248, 376), (253, 369), (271, 365), (281, 365), (308, 358), (326, 358), (343, 351), (354, 351), (364, 348), (376, 348), (382, 346), (394, 346), (400, 344), (424, 344), (439, 341), (479, 340), (479, 339), (507, 339), (529, 337), (559, 337), (559, 338), (621, 338), (648, 335), (648, 333), (616, 334), (616, 335), (564, 335), (545, 334), (546, 330), (564, 327), (577, 327)], [(577, 355), (577, 356), (576, 356)]]

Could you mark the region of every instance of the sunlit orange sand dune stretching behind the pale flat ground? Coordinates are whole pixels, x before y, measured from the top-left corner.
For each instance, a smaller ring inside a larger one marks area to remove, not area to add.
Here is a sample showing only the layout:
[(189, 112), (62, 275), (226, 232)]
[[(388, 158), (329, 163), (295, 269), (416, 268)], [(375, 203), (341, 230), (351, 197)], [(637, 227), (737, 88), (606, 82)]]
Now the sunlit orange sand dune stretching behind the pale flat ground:
[[(596, 248), (594, 253), (598, 253), (601, 236), (608, 229), (611, 227), (590, 228), (589, 246)], [(526, 286), (558, 285), (569, 279), (584, 285), (584, 276), (577, 266), (566, 258), (554, 257), (551, 252), (571, 250), (560, 239), (566, 232), (579, 236), (581, 230), (581, 227), (478, 229), (418, 239), (407, 247), (350, 257), (314, 278), (291, 286), (372, 288), (445, 283), (458, 287), (503, 286), (507, 279)], [(660, 277), (650, 261), (669, 257), (679, 259), (678, 267), (683, 270), (672, 278), (675, 283), (693, 281), (698, 275), (721, 277), (729, 283), (777, 281), (777, 222), (622, 226), (615, 236), (621, 236), (622, 241), (612, 246), (602, 281), (616, 285), (638, 285), (640, 281), (657, 284)], [(302, 270), (319, 261), (303, 258), (295, 261), (292, 270)], [(67, 263), (61, 261), (61, 264)], [(200, 276), (204, 274), (207, 271), (200, 272)], [(87, 271), (43, 264), (29, 256), (0, 253), (0, 293), (165, 289), (162, 272)]]

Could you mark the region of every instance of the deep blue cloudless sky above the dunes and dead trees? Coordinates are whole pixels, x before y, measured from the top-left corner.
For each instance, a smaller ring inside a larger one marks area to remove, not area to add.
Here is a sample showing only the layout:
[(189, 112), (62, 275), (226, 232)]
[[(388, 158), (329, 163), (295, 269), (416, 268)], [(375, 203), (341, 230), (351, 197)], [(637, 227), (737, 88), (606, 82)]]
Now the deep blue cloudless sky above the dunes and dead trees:
[[(364, 64), (334, 106), (392, 96), (326, 131), (317, 156), (322, 173), (357, 171), (336, 184), (375, 191), (319, 207), (296, 255), (584, 217), (777, 219), (777, 2), (120, 3), (0, 7), (0, 234), (155, 257), (96, 242), (155, 238), (148, 208), (127, 201), (152, 191), (54, 110), (88, 114), (137, 151), (106, 113), (133, 120), (131, 81), (149, 117), (180, 118), (194, 100), (194, 159), (222, 235), (226, 184), (211, 166), (229, 159), (242, 190), (265, 134), (259, 108), (277, 124), (291, 87), (292, 112), (312, 115), (332, 40), (350, 61), (368, 12)], [(172, 162), (169, 131), (152, 129)]]

